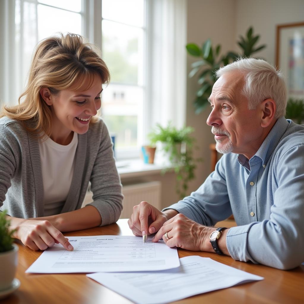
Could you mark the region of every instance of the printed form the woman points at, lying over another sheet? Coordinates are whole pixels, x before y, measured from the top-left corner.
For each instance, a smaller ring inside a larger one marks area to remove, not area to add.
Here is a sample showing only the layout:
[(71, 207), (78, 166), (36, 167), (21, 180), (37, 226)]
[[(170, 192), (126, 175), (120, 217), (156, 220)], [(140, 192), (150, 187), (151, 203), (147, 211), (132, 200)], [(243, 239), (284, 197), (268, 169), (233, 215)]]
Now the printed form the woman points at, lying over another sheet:
[(155, 271), (178, 267), (176, 247), (142, 237), (99, 235), (68, 237), (74, 250), (61, 244), (45, 250), (26, 270), (30, 273)]

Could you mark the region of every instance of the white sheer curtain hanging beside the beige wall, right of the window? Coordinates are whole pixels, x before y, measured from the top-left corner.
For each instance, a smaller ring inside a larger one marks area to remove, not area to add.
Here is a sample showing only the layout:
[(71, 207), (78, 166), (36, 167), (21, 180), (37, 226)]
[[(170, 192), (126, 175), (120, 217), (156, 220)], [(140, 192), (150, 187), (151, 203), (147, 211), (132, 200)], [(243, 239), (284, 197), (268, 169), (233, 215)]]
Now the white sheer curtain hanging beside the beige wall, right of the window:
[(149, 125), (185, 124), (186, 117), (186, 29), (187, 0), (148, 1), (150, 40), (147, 109)]

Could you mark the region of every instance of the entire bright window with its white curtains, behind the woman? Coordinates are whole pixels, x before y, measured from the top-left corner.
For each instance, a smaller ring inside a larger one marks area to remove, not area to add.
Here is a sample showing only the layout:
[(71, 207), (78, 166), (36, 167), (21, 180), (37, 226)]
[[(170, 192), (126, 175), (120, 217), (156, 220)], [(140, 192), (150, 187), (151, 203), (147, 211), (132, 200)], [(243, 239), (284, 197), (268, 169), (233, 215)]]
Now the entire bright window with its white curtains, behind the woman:
[(17, 103), (38, 41), (71, 32), (96, 43), (109, 67), (101, 115), (117, 158), (138, 157), (155, 123), (184, 124), (185, 0), (15, 0), (0, 9), (9, 16), (0, 28), (0, 100)]

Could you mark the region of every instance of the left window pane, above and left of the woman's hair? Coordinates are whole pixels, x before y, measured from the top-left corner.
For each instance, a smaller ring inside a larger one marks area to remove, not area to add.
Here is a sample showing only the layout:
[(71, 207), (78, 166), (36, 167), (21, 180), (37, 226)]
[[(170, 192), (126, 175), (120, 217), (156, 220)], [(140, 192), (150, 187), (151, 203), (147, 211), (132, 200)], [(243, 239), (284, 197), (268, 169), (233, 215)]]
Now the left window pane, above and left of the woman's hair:
[[(33, 50), (38, 41), (58, 32), (82, 34), (81, 0), (16, 0), (15, 51), (18, 95), (26, 84)], [(73, 22), (71, 22), (73, 20)], [(16, 98), (17, 99), (17, 98)]]

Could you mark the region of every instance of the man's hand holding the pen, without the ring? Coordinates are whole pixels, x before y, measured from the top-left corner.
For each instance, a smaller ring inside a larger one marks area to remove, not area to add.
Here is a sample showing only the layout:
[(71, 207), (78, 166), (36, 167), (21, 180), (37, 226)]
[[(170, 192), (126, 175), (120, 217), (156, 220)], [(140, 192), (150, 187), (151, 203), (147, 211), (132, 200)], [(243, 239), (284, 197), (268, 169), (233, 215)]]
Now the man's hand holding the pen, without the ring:
[(150, 235), (158, 231), (168, 219), (166, 213), (161, 212), (148, 202), (140, 202), (139, 205), (133, 207), (128, 224), (134, 235)]

